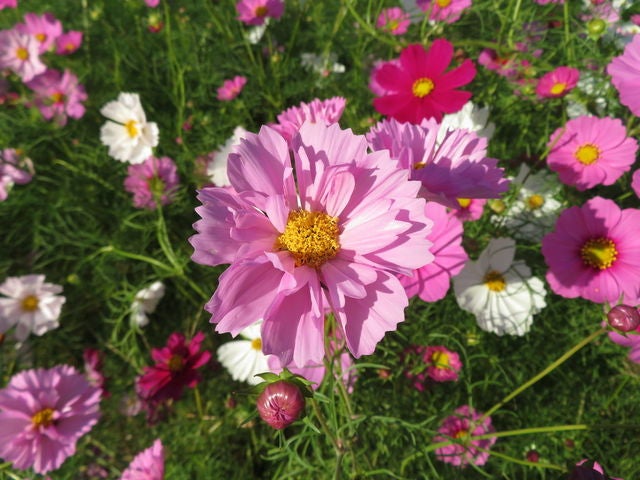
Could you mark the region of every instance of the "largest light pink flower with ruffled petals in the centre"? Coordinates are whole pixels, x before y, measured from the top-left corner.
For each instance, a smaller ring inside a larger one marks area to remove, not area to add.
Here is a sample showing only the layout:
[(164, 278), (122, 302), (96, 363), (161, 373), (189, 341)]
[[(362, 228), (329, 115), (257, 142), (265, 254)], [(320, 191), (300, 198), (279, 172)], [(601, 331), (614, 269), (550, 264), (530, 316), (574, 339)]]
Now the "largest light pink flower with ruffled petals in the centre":
[(262, 350), (282, 365), (322, 362), (329, 312), (351, 353), (371, 354), (404, 320), (395, 274), (432, 260), (420, 184), (337, 124), (305, 123), (291, 148), (270, 127), (247, 133), (229, 155), (232, 190), (199, 192), (192, 259), (231, 263), (205, 308), (234, 336), (263, 318)]

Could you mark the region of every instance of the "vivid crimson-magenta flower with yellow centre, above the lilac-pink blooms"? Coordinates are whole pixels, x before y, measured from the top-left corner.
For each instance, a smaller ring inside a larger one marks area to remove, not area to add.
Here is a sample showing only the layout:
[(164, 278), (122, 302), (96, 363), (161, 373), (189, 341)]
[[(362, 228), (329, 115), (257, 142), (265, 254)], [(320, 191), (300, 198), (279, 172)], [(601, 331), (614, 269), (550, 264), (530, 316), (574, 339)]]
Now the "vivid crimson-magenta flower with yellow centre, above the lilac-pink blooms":
[(471, 92), (456, 90), (476, 75), (469, 59), (445, 73), (453, 58), (453, 45), (437, 39), (429, 50), (409, 45), (400, 53), (399, 62), (386, 62), (376, 69), (374, 82), (384, 93), (373, 100), (378, 112), (400, 122), (420, 123), (425, 118), (442, 120), (471, 98)]

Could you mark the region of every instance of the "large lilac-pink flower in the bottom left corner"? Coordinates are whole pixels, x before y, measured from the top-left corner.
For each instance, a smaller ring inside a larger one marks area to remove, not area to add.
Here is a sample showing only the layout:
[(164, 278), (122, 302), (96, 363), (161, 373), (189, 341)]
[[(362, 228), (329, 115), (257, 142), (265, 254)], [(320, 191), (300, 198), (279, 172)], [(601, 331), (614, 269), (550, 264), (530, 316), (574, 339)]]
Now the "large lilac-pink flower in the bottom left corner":
[(25, 370), (0, 390), (0, 457), (36, 473), (56, 470), (97, 423), (100, 389), (73, 367)]

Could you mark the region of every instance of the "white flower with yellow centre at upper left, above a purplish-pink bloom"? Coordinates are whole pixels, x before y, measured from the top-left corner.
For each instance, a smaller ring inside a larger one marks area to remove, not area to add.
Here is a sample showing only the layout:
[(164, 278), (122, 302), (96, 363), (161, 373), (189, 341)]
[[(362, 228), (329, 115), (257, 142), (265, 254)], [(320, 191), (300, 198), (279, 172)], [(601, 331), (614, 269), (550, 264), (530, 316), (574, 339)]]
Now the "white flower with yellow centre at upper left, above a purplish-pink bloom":
[(109, 155), (129, 163), (142, 163), (151, 156), (160, 132), (158, 125), (147, 122), (137, 93), (120, 93), (100, 113), (109, 119), (100, 128), (100, 140), (109, 147)]

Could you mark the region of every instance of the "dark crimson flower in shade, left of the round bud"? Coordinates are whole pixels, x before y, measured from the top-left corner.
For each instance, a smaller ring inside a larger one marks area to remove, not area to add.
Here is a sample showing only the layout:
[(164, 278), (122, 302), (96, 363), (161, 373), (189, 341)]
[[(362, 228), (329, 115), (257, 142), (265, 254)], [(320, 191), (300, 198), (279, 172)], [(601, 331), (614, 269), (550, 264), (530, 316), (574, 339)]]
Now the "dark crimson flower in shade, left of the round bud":
[(147, 402), (160, 403), (178, 400), (184, 387), (194, 388), (201, 380), (197, 370), (211, 358), (210, 352), (200, 351), (203, 341), (202, 332), (196, 333), (189, 343), (182, 333), (174, 332), (165, 347), (151, 349), (151, 358), (156, 363), (144, 367), (137, 378), (138, 395)]

